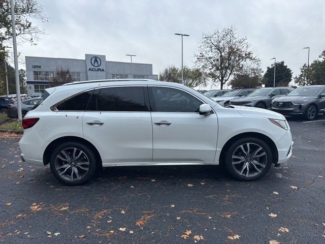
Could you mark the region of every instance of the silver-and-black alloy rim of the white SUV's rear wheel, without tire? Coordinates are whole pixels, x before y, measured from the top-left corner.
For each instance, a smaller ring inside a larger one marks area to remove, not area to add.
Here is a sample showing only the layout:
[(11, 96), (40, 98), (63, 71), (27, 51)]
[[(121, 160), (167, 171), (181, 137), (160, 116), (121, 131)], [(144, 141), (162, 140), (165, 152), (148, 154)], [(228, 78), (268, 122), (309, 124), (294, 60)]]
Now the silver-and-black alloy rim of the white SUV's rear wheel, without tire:
[(54, 166), (61, 178), (75, 181), (82, 179), (87, 174), (89, 159), (84, 151), (76, 147), (69, 147), (61, 150), (56, 156)]

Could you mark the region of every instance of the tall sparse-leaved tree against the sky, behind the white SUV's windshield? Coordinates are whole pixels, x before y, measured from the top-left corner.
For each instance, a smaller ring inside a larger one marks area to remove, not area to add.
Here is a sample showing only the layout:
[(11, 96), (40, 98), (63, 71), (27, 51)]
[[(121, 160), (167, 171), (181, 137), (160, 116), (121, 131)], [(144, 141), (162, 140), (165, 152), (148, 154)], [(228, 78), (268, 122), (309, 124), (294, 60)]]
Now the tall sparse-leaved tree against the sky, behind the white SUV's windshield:
[(221, 89), (245, 62), (259, 62), (247, 38), (237, 36), (234, 26), (203, 34), (196, 57), (197, 66)]

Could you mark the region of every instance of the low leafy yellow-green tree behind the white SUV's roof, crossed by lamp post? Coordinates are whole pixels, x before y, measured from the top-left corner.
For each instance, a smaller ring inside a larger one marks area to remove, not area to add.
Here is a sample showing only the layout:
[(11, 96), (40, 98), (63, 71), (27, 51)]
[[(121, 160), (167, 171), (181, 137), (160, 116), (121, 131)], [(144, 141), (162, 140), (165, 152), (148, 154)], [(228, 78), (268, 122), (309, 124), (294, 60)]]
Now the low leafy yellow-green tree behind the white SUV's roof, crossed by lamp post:
[[(206, 85), (206, 79), (203, 72), (198, 68), (183, 67), (184, 85), (188, 87), (197, 87)], [(175, 66), (169, 66), (159, 73), (160, 81), (182, 83), (182, 71)]]

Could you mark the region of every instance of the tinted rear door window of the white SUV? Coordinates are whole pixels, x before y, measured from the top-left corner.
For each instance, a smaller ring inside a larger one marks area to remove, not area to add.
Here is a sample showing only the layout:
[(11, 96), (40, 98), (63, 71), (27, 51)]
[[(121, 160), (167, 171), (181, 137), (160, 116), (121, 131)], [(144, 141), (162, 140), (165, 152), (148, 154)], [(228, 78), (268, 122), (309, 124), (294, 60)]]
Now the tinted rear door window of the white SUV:
[(98, 111), (148, 112), (145, 104), (144, 87), (102, 88), (97, 96)]

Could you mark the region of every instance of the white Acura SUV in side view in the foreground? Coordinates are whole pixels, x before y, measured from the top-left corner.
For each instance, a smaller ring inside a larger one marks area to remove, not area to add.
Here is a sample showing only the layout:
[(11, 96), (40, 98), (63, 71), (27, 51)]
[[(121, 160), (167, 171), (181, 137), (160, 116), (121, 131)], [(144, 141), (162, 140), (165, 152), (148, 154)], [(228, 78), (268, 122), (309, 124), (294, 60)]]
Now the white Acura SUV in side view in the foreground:
[(67, 185), (84, 183), (101, 166), (219, 162), (235, 178), (254, 180), (291, 156), (283, 115), (221, 106), (184, 85), (153, 80), (48, 88), (22, 124), (23, 161), (50, 164)]

